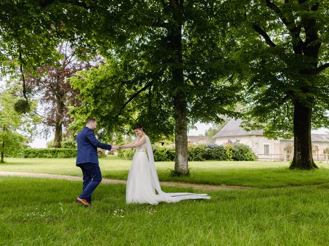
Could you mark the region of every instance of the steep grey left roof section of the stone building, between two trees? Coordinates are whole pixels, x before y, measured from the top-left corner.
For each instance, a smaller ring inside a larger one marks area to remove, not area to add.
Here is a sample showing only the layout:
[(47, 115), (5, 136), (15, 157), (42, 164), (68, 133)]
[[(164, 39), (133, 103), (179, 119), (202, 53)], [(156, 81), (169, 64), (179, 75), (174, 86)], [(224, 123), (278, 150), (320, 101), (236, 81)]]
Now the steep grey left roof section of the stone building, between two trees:
[(230, 137), (230, 136), (247, 136), (247, 135), (263, 135), (263, 130), (252, 130), (245, 131), (240, 127), (242, 119), (231, 119), (228, 123), (219, 131), (214, 138), (216, 137)]

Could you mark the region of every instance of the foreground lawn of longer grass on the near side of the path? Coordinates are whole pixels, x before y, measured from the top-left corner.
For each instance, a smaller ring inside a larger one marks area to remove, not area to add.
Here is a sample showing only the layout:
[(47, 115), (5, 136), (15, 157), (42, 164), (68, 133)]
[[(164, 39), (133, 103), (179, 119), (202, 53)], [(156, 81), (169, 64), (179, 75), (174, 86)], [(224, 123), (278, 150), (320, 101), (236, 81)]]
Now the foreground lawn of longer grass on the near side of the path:
[(81, 186), (0, 177), (0, 245), (328, 245), (328, 183), (222, 190), (158, 206), (127, 205), (124, 185), (101, 183), (90, 208), (74, 202)]

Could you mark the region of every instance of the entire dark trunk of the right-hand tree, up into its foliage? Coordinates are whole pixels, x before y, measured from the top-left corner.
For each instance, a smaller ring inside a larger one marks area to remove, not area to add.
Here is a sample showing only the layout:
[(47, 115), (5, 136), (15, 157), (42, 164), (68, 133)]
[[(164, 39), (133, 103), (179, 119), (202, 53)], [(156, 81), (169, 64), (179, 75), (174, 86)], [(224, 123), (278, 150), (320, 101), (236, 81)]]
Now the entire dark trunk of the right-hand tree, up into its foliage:
[[(305, 1), (300, 1), (304, 4)], [(319, 3), (314, 2), (311, 7), (305, 5), (305, 11), (317, 11)], [(310, 8), (310, 9), (309, 9)], [(316, 18), (313, 15), (304, 14), (302, 16), (302, 25), (305, 30), (305, 42), (302, 44), (300, 40), (296, 39), (296, 44), (299, 44), (298, 49), (294, 48), (296, 54), (301, 54), (301, 51), (307, 59), (305, 67), (300, 71), (301, 75), (305, 75), (305, 80), (308, 80), (309, 85), (304, 85), (300, 89), (305, 93), (303, 103), (299, 99), (294, 101), (294, 158), (290, 165), (290, 169), (314, 169), (318, 168), (313, 160), (312, 155), (312, 140), (310, 135), (312, 108), (314, 99), (312, 96), (307, 96), (306, 93), (313, 94), (313, 88), (317, 84), (317, 66), (319, 50), (321, 42), (318, 36), (318, 29), (316, 25)], [(299, 35), (298, 35), (299, 37)]]

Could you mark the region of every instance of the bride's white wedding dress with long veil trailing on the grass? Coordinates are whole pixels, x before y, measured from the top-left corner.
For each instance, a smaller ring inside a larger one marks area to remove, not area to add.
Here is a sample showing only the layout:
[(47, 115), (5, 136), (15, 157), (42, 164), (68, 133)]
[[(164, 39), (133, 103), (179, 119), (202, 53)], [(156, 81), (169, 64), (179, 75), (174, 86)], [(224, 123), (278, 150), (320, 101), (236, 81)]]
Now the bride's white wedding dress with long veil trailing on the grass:
[(161, 201), (178, 202), (186, 199), (211, 198), (207, 194), (163, 192), (155, 169), (151, 142), (148, 136), (145, 138), (145, 144), (136, 147), (136, 153), (128, 174), (126, 203), (158, 204)]

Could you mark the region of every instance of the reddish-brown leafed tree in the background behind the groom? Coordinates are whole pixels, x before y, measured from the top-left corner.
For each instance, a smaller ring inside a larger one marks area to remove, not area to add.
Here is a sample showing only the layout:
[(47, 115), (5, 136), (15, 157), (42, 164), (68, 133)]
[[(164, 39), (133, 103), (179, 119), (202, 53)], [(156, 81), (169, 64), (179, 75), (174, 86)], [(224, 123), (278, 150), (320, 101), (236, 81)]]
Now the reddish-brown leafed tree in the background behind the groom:
[[(61, 43), (58, 52), (62, 57), (53, 66), (39, 68), (39, 76), (27, 79), (27, 85), (33, 88), (33, 95), (39, 99), (39, 106), (43, 108), (43, 131), (54, 131), (53, 148), (61, 148), (63, 128), (72, 122), (68, 108), (79, 105), (79, 90), (72, 89), (68, 78), (79, 70), (92, 67), (90, 63), (77, 58), (68, 42)], [(94, 64), (97, 64), (96, 60)]]

